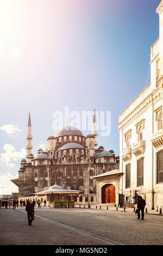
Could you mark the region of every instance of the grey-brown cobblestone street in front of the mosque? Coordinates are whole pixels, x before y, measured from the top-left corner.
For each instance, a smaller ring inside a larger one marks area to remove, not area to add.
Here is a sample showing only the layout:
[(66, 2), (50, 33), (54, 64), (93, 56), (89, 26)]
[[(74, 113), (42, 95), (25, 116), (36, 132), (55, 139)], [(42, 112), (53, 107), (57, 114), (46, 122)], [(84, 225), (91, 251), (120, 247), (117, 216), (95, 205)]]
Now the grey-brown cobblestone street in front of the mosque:
[(163, 216), (98, 209), (0, 209), (0, 245), (163, 245)]

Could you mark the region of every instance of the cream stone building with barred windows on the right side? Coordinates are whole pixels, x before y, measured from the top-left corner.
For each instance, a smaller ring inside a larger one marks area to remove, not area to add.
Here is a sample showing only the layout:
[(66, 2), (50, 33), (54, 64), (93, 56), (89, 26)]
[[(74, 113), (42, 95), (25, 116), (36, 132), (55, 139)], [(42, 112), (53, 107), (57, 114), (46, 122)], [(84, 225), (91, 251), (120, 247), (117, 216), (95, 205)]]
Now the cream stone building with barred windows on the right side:
[(151, 83), (119, 115), (121, 191), (124, 201), (137, 195), (147, 207), (163, 205), (163, 1), (159, 39), (151, 46)]

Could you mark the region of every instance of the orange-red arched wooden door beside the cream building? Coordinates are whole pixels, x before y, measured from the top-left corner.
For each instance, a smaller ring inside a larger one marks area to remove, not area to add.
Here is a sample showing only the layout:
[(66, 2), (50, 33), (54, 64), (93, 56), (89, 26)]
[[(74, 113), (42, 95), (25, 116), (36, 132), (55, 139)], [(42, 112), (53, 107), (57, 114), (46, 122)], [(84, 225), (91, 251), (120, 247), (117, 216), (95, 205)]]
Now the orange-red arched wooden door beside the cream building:
[(102, 187), (102, 204), (114, 204), (115, 197), (115, 186), (112, 184), (106, 184)]

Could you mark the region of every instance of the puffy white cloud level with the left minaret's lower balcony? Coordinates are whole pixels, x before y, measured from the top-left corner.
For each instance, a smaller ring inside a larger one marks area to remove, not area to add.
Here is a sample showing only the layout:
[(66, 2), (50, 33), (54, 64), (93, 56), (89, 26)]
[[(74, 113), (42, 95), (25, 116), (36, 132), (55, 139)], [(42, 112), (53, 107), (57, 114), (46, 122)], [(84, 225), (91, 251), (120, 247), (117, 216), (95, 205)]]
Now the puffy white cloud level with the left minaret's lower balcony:
[(16, 151), (13, 145), (4, 144), (3, 147), (5, 153), (0, 154), (0, 161), (2, 166), (14, 167), (16, 166), (13, 161), (17, 161), (22, 157), (26, 156), (26, 149), (21, 149), (21, 151)]

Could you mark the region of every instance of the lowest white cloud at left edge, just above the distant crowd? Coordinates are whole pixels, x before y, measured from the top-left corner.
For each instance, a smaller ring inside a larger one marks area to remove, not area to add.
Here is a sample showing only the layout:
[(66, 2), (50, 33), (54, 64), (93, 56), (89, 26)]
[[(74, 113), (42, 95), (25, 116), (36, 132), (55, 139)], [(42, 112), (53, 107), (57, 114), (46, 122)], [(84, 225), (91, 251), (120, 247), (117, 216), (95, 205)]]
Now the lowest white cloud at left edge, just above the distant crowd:
[(11, 180), (17, 178), (18, 174), (13, 176), (9, 172), (0, 175), (0, 186), (3, 187), (2, 190), (0, 190), (0, 194), (11, 194), (12, 192), (18, 192), (18, 187), (11, 182)]

